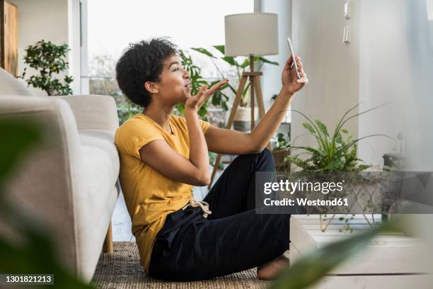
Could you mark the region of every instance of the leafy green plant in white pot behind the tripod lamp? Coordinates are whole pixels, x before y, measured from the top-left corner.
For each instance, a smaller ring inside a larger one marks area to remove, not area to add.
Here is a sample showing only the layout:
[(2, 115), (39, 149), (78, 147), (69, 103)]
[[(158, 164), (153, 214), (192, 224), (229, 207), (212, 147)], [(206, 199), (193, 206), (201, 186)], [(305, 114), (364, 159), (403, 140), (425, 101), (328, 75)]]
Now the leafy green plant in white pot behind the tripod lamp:
[[(202, 47), (195, 47), (192, 48), (192, 50), (195, 50), (197, 52), (202, 53), (203, 55), (207, 55), (211, 60), (214, 66), (217, 68), (218, 73), (221, 75), (221, 78), (226, 79), (227, 77), (221, 72), (221, 69), (217, 65), (217, 62), (215, 60), (223, 60), (224, 62), (230, 64), (230, 66), (234, 69), (236, 72), (236, 78), (237, 83), (241, 80), (242, 73), (247, 72), (250, 67), (250, 59), (249, 57), (246, 57), (241, 62), (238, 62), (238, 60), (235, 57), (229, 57), (225, 55), (225, 47), (224, 45), (214, 45), (213, 46), (216, 50), (218, 50), (221, 55), (214, 56), (209, 50), (206, 50)], [(272, 64), (272, 65), (278, 65), (278, 62), (272, 62), (270, 60), (265, 59), (264, 57), (254, 57), (254, 61), (260, 61), (260, 65), (258, 67), (258, 71), (262, 68), (262, 65)], [(236, 81), (233, 81), (236, 82)], [(233, 87), (231, 84), (229, 84), (229, 88), (233, 92), (233, 94), (236, 94), (237, 89)], [(248, 108), (248, 91), (250, 89), (250, 83), (246, 85), (245, 89), (242, 91), (242, 98), (241, 102), (239, 103), (238, 109), (236, 110), (236, 115), (233, 118), (233, 128), (235, 130), (239, 130), (242, 132), (249, 132), (251, 130), (251, 111), (250, 108)], [(255, 113), (257, 115), (257, 113)]]

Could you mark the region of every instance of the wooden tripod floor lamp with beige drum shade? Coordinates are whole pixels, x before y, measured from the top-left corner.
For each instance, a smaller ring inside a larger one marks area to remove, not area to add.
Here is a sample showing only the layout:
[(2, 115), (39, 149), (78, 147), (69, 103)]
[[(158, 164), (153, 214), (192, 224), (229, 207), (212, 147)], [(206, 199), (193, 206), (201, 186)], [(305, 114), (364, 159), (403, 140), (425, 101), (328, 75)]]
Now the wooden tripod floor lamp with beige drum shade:
[[(257, 100), (259, 118), (265, 114), (260, 77), (262, 72), (254, 71), (254, 57), (262, 55), (278, 54), (278, 16), (275, 13), (242, 13), (227, 15), (224, 18), (226, 33), (225, 55), (249, 56), (250, 72), (243, 72), (239, 81), (236, 97), (233, 101), (229, 120), (226, 128), (230, 129), (233, 124), (236, 111), (241, 102), (242, 92), (246, 83), (250, 81), (250, 106), (251, 106), (251, 130), (255, 126), (254, 104)], [(269, 144), (267, 145), (269, 147)], [(221, 154), (215, 159), (211, 181), (208, 188), (212, 186), (215, 174), (217, 174)]]

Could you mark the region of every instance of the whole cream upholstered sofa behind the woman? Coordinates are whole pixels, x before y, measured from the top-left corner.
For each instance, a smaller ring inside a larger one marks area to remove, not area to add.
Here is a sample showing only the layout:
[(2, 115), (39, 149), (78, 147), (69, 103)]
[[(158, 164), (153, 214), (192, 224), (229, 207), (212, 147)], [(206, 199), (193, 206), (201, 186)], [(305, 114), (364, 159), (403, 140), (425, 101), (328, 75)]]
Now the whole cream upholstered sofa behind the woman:
[(103, 247), (112, 251), (110, 221), (120, 191), (115, 101), (33, 96), (0, 69), (1, 118), (28, 118), (43, 128), (42, 145), (25, 155), (6, 183), (8, 201), (40, 220), (59, 261), (89, 282)]

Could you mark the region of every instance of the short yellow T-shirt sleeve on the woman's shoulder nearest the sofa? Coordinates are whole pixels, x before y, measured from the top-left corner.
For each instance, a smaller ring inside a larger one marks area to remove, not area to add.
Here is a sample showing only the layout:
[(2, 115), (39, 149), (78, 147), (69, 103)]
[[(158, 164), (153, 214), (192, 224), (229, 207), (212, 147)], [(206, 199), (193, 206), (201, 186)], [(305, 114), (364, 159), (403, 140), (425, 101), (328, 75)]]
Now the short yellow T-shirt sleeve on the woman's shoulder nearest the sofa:
[(115, 145), (117, 149), (132, 157), (140, 158), (139, 150), (154, 140), (165, 140), (161, 132), (154, 125), (131, 120), (117, 129)]

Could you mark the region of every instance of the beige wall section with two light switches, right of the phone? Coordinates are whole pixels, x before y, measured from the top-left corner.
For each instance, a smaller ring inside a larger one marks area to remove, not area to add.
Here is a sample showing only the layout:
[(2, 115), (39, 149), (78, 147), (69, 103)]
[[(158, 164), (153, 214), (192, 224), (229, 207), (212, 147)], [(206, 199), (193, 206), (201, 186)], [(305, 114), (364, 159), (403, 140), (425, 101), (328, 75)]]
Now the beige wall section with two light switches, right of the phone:
[[(310, 82), (296, 94), (291, 108), (322, 120), (330, 130), (358, 102), (359, 16), (359, 2), (353, 3), (352, 18), (347, 21), (342, 0), (293, 0), (292, 42), (295, 53), (302, 57)], [(347, 25), (352, 27), (350, 44), (342, 41)], [(304, 121), (298, 113), (292, 113), (292, 139), (306, 132), (301, 127)], [(357, 137), (357, 119), (346, 127)], [(299, 137), (295, 145), (316, 145), (316, 141), (312, 137)]]

